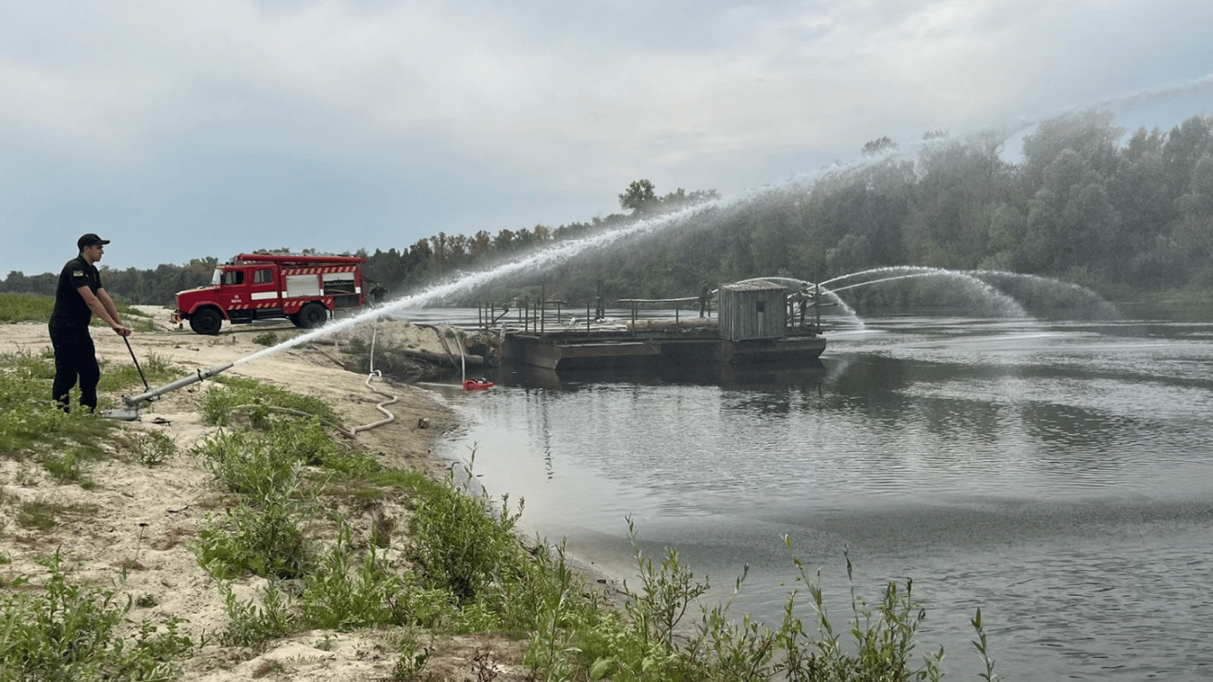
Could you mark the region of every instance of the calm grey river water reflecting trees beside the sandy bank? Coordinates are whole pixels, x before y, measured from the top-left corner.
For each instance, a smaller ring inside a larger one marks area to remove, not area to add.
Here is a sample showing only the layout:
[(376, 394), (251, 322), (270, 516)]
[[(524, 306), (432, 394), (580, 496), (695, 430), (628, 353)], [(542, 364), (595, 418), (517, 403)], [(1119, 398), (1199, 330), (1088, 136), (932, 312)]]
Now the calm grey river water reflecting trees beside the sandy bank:
[[(435, 314), (445, 314), (437, 313)], [(634, 585), (626, 518), (778, 624), (820, 569), (836, 626), (913, 579), (952, 680), (1213, 676), (1213, 324), (831, 322), (820, 363), (704, 375), (502, 370), (448, 391), (524, 527)], [(798, 614), (814, 621), (808, 597)]]

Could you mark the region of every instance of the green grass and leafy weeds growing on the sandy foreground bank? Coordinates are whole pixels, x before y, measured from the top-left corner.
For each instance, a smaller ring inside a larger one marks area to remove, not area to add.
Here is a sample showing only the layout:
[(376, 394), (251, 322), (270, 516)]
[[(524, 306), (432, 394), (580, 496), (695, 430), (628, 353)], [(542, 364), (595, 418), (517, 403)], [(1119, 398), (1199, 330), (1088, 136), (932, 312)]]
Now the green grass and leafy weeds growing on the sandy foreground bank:
[[(34, 398), (49, 393), (49, 362), (45, 354), (0, 356), (0, 456), (36, 464), (58, 484), (85, 485), (96, 457), (155, 466), (175, 455), (166, 437), (64, 415), (49, 399)], [(149, 364), (156, 373), (173, 371), (166, 363)], [(522, 642), (530, 677), (545, 681), (943, 676), (943, 650), (916, 653), (926, 612), (911, 581), (887, 584), (875, 601), (853, 586), (845, 624), (836, 624), (818, 576), (788, 545), (797, 589), (787, 596), (784, 620), (764, 625), (731, 614), (733, 599), (701, 604), (707, 580), (684, 566), (676, 547), (643, 553), (628, 521), (638, 582), (628, 585), (622, 609), (605, 608), (571, 570), (563, 546), (524, 545), (517, 533), (523, 501), (475, 488), (472, 465), (440, 482), (383, 467), (335, 437), (340, 426), (324, 403), (239, 377), (212, 386), (203, 411), (221, 430), (189, 456), (210, 472), (224, 508), (212, 512), (188, 546), (216, 579), (226, 604), (227, 624), (210, 636), (245, 655), (311, 630), (374, 631), (393, 647), (393, 680), (438, 680), (428, 670), (435, 643), (479, 633)], [(98, 441), (116, 445), (102, 451)], [(89, 505), (15, 495), (0, 495), (0, 506), (24, 532), (95, 513)], [(388, 507), (405, 511), (397, 519), (408, 523), (406, 534), (382, 513), (374, 523), (352, 521)], [(0, 528), (0, 536), (8, 534)], [(29, 585), (35, 576), (5, 575), (0, 582), (6, 595), (0, 601), (0, 682), (180, 676), (182, 660), (195, 649), (178, 633), (176, 619), (160, 626), (131, 619), (133, 606), (154, 603), (73, 584), (57, 553), (47, 573), (36, 589)], [(233, 581), (247, 575), (267, 579), (260, 598), (241, 599), (233, 591)], [(744, 582), (745, 573), (734, 595)], [(973, 626), (986, 664), (981, 677), (992, 682), (980, 610)], [(489, 658), (478, 654), (478, 680), (495, 675)]]

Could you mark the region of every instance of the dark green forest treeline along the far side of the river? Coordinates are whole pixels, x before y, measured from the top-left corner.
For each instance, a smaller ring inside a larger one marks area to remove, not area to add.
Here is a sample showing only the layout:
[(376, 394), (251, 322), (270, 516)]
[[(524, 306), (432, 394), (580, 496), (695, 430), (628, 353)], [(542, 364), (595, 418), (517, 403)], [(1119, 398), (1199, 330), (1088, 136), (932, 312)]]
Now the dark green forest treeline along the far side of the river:
[[(619, 194), (625, 212), (605, 218), (439, 232), (405, 249), (351, 252), (366, 256), (368, 277), (397, 296), (588, 240), (575, 257), (485, 280), (446, 305), (541, 292), (585, 301), (598, 288), (611, 300), (691, 296), (702, 283), (825, 282), (889, 266), (1041, 275), (1121, 299), (1213, 288), (1213, 118), (1126, 135), (1111, 112), (1081, 110), (1040, 123), (1019, 154), (1006, 143), (995, 132), (952, 140), (932, 131), (905, 148), (882, 137), (860, 161), (740, 199), (711, 189), (661, 195), (638, 180)], [(596, 245), (640, 221), (648, 227), (634, 237)], [(210, 282), (215, 265), (103, 269), (103, 279), (115, 299), (171, 306), (176, 291)], [(52, 294), (55, 278), (13, 271), (0, 291)]]

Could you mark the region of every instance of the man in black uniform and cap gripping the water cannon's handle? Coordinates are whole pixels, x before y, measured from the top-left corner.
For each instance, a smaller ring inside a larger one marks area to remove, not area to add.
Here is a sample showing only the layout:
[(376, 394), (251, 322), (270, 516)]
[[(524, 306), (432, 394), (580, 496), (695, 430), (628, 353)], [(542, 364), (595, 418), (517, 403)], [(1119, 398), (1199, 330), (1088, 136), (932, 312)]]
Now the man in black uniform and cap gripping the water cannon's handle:
[(119, 336), (130, 336), (114, 301), (101, 284), (101, 272), (93, 265), (106, 252), (109, 239), (89, 233), (76, 240), (80, 255), (63, 266), (59, 285), (55, 290), (55, 312), (51, 313), (51, 346), (55, 347), (55, 383), (51, 397), (63, 411), (69, 411), (68, 393), (80, 381), (80, 404), (97, 409), (97, 382), (101, 365), (89, 335), (89, 323), (97, 314)]

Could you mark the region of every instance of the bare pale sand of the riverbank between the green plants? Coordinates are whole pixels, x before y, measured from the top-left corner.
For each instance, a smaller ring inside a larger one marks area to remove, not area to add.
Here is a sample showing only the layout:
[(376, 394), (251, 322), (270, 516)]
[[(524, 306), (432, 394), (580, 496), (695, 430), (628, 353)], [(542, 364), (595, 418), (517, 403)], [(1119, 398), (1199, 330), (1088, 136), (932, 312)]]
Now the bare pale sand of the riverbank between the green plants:
[[(200, 336), (177, 329), (167, 318), (165, 308), (143, 308), (152, 314), (156, 329), (139, 331), (130, 337), (131, 348), (141, 364), (153, 358), (165, 360), (187, 370), (210, 369), (246, 358), (266, 346), (254, 342), (258, 335), (273, 331), (279, 339), (298, 330), (289, 324), (237, 326), (224, 325), (218, 336)], [(133, 318), (132, 318), (133, 319)], [(416, 339), (404, 339), (418, 347), (442, 352), (432, 330), (416, 330)], [(411, 334), (408, 326), (395, 331)], [(93, 329), (97, 354), (106, 368), (131, 363), (131, 352), (123, 339), (103, 328)], [(399, 340), (399, 339), (398, 339)], [(39, 353), (50, 346), (46, 325), (42, 323), (18, 323), (0, 325), (0, 342), (6, 352), (25, 349)], [(380, 421), (383, 415), (375, 405), (382, 400), (365, 385), (366, 377), (346, 371), (337, 362), (340, 348), (332, 340), (281, 349), (254, 360), (241, 363), (223, 374), (249, 376), (283, 386), (301, 393), (314, 394), (332, 405), (346, 419), (347, 425), (364, 425)], [(176, 442), (177, 455), (165, 465), (144, 467), (109, 460), (90, 465), (89, 478), (97, 485), (86, 490), (74, 484), (56, 484), (36, 467), (11, 460), (0, 460), (0, 484), (7, 495), (27, 499), (47, 499), (62, 505), (90, 505), (95, 513), (63, 519), (45, 533), (27, 533), (6, 522), (6, 536), (13, 538), (5, 552), (12, 563), (4, 567), (11, 576), (30, 576), (36, 581), (45, 576), (38, 559), (53, 553), (56, 549), (69, 559), (72, 578), (102, 587), (113, 586), (120, 597), (130, 595), (142, 603), (154, 603), (150, 608), (136, 608), (136, 620), (149, 618), (164, 623), (170, 616), (187, 619), (183, 633), (195, 643), (207, 632), (224, 627), (227, 615), (223, 597), (213, 579), (199, 566), (186, 542), (197, 536), (209, 511), (222, 513), (222, 504), (216, 504), (216, 490), (210, 476), (195, 457), (188, 456), (197, 443), (213, 433), (204, 425), (198, 409), (201, 392), (211, 382), (203, 381), (166, 393), (160, 400), (142, 413), (139, 421), (121, 422), (123, 428), (154, 431)], [(377, 390), (399, 398), (391, 405), (394, 422), (358, 433), (357, 439), (375, 453), (383, 464), (409, 467), (442, 477), (448, 462), (435, 454), (435, 439), (459, 426), (456, 414), (431, 391), (416, 386), (375, 382)], [(155, 386), (153, 386), (155, 387)], [(132, 391), (135, 392), (135, 391)], [(119, 398), (118, 396), (102, 396)], [(425, 427), (421, 426), (425, 424)], [(29, 477), (38, 478), (36, 482)], [(6, 508), (15, 507), (10, 505)], [(0, 511), (0, 513), (8, 513)], [(371, 519), (359, 519), (371, 523)], [(395, 550), (399, 551), (399, 550)], [(124, 566), (133, 569), (123, 570)], [(249, 578), (237, 585), (240, 598), (255, 597), (263, 587), (263, 580)], [(213, 636), (211, 637), (213, 640)], [(427, 671), (449, 671), (454, 680), (474, 678), (468, 674), (468, 663), (485, 648), (500, 647), (497, 660), (517, 659), (519, 643), (494, 642), (477, 637), (452, 638), (435, 646), (427, 664)], [(513, 647), (514, 650), (506, 650)], [(187, 680), (207, 682), (232, 682), (260, 677), (258, 671), (285, 666), (286, 677), (295, 681), (344, 681), (386, 678), (391, 676), (397, 654), (385, 649), (372, 633), (306, 632), (279, 642), (264, 654), (244, 660), (237, 652), (206, 650), (184, 663)], [(523, 671), (517, 665), (500, 667), (499, 682), (522, 680)]]

